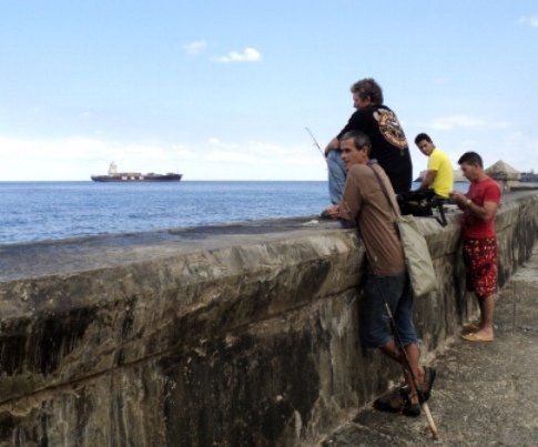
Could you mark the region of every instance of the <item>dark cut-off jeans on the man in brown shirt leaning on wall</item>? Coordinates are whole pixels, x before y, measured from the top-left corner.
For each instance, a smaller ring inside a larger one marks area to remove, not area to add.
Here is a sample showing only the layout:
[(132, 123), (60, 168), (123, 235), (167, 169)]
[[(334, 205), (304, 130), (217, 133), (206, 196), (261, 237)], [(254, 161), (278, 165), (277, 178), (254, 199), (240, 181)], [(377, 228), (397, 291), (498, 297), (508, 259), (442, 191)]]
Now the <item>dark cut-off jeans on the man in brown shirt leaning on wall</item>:
[(368, 274), (361, 303), (363, 346), (374, 349), (394, 338), (385, 303), (388, 303), (402, 344), (407, 346), (418, 343), (413, 323), (413, 292), (407, 273), (395, 276)]

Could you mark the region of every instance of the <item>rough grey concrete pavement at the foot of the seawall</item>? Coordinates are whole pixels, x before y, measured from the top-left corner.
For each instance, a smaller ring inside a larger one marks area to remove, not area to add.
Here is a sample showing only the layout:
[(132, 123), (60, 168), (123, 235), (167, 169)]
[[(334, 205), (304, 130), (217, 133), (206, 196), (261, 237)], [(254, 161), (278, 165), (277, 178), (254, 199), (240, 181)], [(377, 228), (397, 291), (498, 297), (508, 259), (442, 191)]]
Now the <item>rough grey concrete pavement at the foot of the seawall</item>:
[(363, 409), (323, 441), (351, 446), (538, 446), (538, 245), (500, 291), (493, 343), (459, 337), (433, 363), (437, 380), (426, 417)]

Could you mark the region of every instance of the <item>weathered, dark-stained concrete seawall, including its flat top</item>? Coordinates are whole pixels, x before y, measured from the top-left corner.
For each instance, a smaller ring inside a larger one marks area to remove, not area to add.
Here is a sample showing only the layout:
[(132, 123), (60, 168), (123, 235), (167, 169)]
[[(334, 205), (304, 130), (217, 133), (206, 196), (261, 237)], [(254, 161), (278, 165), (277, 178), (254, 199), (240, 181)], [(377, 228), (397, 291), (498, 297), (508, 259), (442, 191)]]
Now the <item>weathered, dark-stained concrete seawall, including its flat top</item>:
[[(538, 235), (538, 195), (497, 220), (500, 280)], [(457, 215), (422, 220), (439, 291), (424, 353), (476, 312)], [(307, 220), (0, 247), (0, 445), (313, 445), (399, 372), (363, 355), (364, 251)]]

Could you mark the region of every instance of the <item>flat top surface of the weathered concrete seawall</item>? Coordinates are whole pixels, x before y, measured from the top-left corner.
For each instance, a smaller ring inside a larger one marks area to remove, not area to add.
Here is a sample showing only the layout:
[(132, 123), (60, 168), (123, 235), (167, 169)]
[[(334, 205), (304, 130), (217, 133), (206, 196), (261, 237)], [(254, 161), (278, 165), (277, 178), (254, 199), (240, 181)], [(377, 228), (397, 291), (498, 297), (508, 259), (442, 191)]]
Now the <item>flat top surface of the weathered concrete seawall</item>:
[[(505, 194), (499, 214), (510, 202), (530, 195), (538, 197), (538, 191)], [(449, 226), (456, 219), (456, 213), (449, 213)], [(435, 220), (420, 221), (425, 234), (439, 232)], [(204, 250), (309, 237), (319, 232), (342, 232), (342, 227), (337, 222), (305, 216), (6, 244), (0, 245), (0, 282), (162, 261)]]

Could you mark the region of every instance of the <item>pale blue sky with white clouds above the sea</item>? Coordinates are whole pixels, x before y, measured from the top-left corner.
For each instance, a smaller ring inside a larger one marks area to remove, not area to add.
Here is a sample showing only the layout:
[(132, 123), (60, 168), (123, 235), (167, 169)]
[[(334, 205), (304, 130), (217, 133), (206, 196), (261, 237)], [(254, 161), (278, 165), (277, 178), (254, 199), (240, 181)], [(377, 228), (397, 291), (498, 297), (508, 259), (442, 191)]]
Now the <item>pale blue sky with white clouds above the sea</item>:
[(0, 0), (0, 181), (325, 180), (374, 78), (406, 133), (538, 171), (538, 1)]

